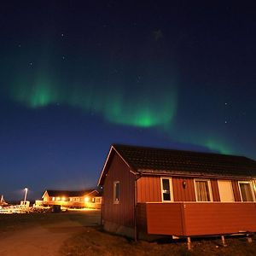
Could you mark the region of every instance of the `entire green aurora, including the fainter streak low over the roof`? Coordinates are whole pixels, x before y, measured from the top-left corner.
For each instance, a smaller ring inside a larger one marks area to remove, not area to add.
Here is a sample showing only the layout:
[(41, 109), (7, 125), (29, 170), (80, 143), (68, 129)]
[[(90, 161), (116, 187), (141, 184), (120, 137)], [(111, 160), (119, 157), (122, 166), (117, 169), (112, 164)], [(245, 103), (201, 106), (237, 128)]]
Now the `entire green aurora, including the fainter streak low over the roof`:
[[(46, 77), (46, 76), (45, 76)], [(15, 102), (19, 102), (26, 108), (46, 108), (51, 105), (69, 106), (73, 109), (82, 109), (84, 113), (95, 113), (103, 119), (115, 125), (127, 125), (137, 128), (153, 129), (166, 133), (181, 143), (191, 143), (209, 148), (222, 154), (232, 154), (227, 143), (222, 143), (212, 134), (204, 134), (199, 137), (191, 132), (179, 132), (175, 129), (175, 118), (178, 109), (177, 85), (170, 84), (165, 88), (157, 87), (157, 90), (148, 90), (144, 85), (140, 88), (143, 93), (131, 94), (136, 87), (125, 88), (113, 86), (105, 89), (95, 84), (73, 85), (72, 88), (58, 85), (55, 79), (35, 79), (33, 84), (28, 81), (19, 81), (11, 87), (10, 94)], [(26, 84), (26, 85), (24, 85)], [(100, 92), (100, 93), (99, 93)], [(188, 136), (189, 135), (189, 136)]]

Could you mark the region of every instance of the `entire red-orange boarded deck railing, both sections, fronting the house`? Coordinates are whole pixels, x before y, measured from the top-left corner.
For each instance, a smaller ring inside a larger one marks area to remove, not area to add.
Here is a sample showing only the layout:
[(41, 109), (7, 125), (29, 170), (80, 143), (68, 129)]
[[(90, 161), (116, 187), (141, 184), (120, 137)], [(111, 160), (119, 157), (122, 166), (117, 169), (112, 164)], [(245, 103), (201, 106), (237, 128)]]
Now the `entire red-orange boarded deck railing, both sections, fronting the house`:
[(148, 234), (206, 236), (256, 231), (254, 202), (146, 204)]

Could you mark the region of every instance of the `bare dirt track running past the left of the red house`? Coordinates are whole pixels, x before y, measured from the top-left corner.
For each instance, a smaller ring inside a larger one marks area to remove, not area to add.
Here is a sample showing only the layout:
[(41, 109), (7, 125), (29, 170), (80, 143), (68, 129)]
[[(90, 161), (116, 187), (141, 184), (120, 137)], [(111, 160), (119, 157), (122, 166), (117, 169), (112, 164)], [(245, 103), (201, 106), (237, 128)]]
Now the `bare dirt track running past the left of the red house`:
[[(58, 218), (57, 214), (54, 218)], [(18, 228), (15, 230), (7, 229), (5, 232), (0, 232), (0, 255), (1, 256), (55, 256), (61, 255), (60, 248), (64, 241), (68, 238), (78, 235), (86, 229), (86, 226), (98, 225), (100, 221), (100, 212), (88, 211), (80, 213), (81, 217), (77, 218), (75, 212), (62, 213), (58, 221), (47, 221), (42, 223)], [(0, 219), (1, 221), (1, 219)]]

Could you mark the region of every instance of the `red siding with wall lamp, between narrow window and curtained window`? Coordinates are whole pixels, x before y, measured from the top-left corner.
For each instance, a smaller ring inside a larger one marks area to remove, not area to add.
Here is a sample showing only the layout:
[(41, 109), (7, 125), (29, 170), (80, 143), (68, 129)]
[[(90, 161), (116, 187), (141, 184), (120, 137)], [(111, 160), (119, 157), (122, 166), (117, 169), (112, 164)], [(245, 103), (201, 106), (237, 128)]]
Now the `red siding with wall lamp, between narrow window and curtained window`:
[[(186, 187), (183, 188), (183, 182)], [(174, 201), (195, 201), (194, 179), (189, 177), (172, 177)]]

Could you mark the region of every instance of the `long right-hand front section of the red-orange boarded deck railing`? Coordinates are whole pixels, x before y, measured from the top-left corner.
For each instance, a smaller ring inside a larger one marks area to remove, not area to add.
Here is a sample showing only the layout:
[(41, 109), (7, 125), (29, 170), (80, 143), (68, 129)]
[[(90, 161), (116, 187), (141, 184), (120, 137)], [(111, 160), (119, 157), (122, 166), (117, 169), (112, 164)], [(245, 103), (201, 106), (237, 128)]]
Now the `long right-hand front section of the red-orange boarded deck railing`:
[(255, 203), (186, 204), (186, 236), (256, 231)]

